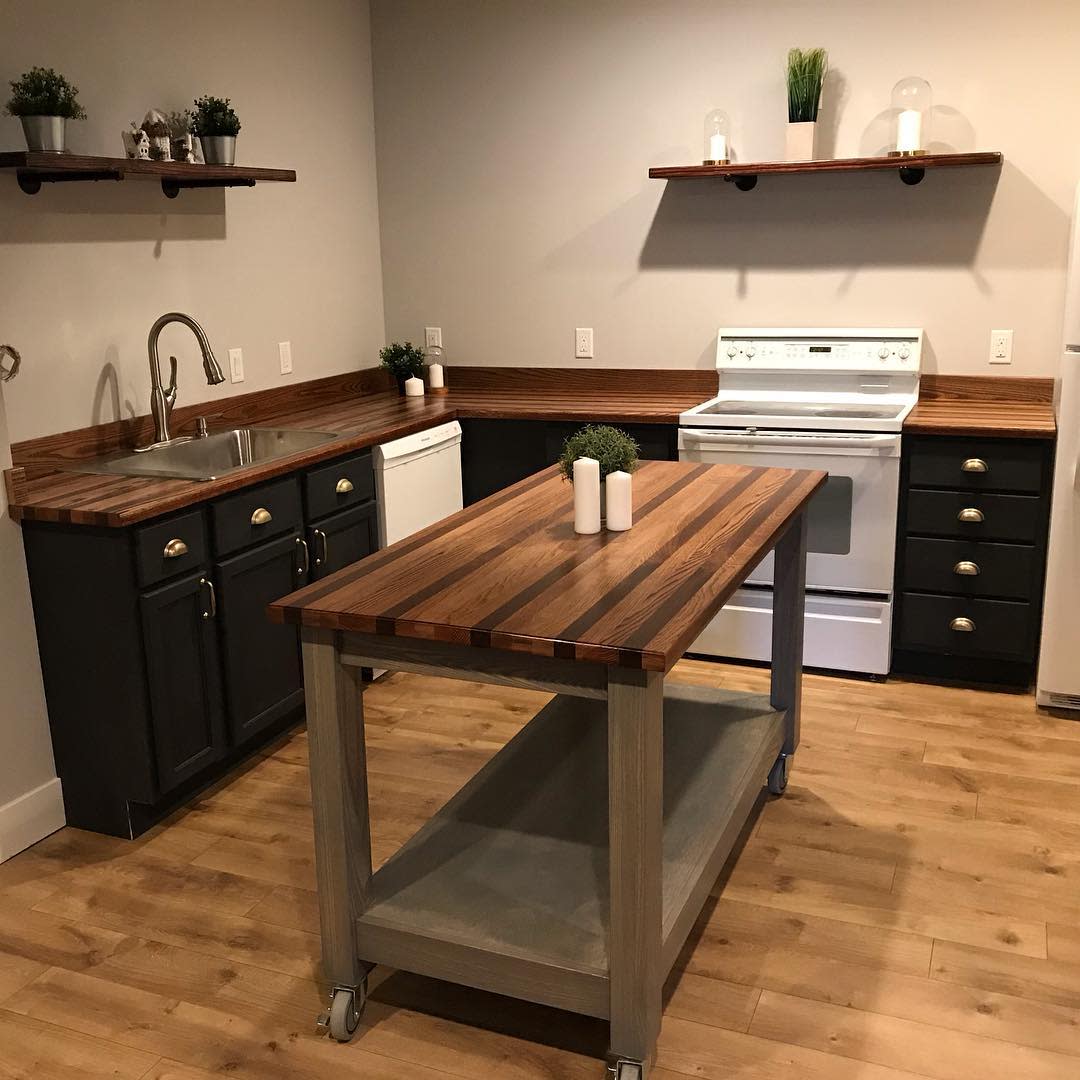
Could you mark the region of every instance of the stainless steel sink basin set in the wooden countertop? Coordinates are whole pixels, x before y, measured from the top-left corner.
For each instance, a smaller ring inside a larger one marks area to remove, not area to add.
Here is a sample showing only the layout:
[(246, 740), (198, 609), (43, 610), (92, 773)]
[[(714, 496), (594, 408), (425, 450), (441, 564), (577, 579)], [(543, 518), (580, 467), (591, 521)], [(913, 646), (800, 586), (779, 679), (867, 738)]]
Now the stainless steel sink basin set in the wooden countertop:
[(217, 480), (238, 469), (310, 450), (338, 436), (326, 431), (282, 428), (234, 428), (203, 438), (186, 438), (141, 454), (80, 461), (77, 472), (119, 476), (168, 476), (174, 480)]

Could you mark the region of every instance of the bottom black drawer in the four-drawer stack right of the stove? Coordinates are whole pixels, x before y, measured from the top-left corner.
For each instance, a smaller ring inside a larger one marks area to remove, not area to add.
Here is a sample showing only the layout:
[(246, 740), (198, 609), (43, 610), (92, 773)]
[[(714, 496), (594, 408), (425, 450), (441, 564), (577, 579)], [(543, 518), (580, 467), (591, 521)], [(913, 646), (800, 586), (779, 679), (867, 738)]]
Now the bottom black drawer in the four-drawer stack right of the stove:
[[(971, 629), (956, 629), (967, 625), (957, 620), (968, 620)], [(899, 629), (896, 645), (902, 649), (1030, 660), (1035, 653), (1036, 607), (1013, 600), (904, 593)]]

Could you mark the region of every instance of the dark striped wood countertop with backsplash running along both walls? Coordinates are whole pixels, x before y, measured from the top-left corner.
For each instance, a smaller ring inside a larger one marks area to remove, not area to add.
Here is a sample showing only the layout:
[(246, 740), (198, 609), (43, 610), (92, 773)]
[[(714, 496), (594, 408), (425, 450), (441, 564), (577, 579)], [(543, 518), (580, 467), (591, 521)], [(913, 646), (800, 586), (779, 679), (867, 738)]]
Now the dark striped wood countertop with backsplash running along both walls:
[[(17, 521), (120, 528), (228, 491), (454, 419), (558, 419), (677, 423), (716, 391), (711, 370), (450, 368), (444, 395), (401, 397), (368, 369), (177, 408), (174, 431), (197, 415), (212, 431), (273, 426), (340, 437), (220, 480), (151, 480), (80, 473), (80, 458), (150, 442), (148, 418), (50, 435), (12, 447), (4, 480)], [(905, 432), (1054, 437), (1050, 379), (926, 375)]]

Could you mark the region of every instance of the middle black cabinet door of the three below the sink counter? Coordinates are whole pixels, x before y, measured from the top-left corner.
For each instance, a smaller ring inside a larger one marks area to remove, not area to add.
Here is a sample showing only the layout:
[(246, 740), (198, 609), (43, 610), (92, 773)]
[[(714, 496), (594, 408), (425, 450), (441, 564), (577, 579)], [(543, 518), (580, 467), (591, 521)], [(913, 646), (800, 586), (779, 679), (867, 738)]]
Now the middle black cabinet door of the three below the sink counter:
[(233, 744), (252, 739), (303, 702), (295, 626), (267, 618), (267, 605), (307, 581), (301, 541), (282, 537), (217, 564), (218, 626)]

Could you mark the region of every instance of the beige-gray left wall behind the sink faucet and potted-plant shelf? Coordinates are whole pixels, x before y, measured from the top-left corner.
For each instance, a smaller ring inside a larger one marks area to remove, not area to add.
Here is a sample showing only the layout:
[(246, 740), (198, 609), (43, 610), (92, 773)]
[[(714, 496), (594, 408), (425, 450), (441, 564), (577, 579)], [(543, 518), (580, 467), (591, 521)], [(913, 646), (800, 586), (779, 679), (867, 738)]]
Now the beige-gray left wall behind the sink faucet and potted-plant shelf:
[[(194, 340), (171, 327), (161, 351), (179, 356), (179, 404), (377, 362), (366, 0), (0, 0), (0, 26), (4, 91), (35, 64), (79, 86), (90, 119), (69, 125), (76, 152), (122, 157), (129, 121), (212, 93), (240, 114), (240, 163), (299, 176), (176, 200), (135, 180), (29, 199), (0, 176), (0, 341), (24, 356), (8, 388), (13, 440), (146, 413), (146, 335), (172, 309), (202, 322), (222, 365), (241, 347), (246, 368), (243, 383), (207, 388)], [(24, 145), (0, 118), (0, 147)]]

